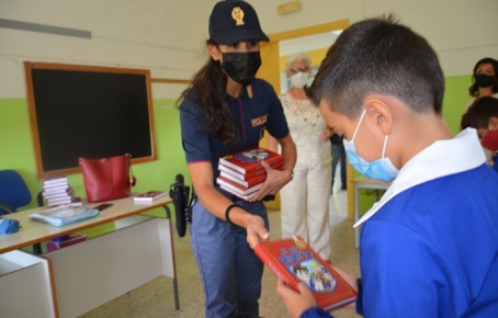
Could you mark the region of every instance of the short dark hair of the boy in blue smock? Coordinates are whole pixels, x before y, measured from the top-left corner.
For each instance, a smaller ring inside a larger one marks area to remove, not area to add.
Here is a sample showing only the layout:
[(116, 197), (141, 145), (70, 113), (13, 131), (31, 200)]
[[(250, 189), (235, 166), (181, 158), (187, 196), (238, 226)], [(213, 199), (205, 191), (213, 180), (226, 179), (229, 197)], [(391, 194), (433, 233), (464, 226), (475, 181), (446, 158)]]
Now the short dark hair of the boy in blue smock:
[(370, 19), (344, 30), (329, 48), (309, 89), (335, 112), (358, 116), (369, 94), (392, 95), (417, 113), (440, 114), (444, 78), (427, 41), (393, 16)]

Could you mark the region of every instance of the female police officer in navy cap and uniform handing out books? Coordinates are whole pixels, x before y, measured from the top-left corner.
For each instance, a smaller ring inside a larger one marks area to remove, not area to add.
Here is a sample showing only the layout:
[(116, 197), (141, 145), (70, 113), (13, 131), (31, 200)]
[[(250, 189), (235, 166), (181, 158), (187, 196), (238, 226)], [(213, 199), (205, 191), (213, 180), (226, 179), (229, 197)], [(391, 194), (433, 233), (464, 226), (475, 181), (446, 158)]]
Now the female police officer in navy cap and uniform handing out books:
[[(254, 9), (240, 0), (217, 2), (208, 30), (210, 58), (179, 98), (182, 145), (197, 196), (191, 247), (205, 317), (258, 317), (263, 263), (251, 248), (269, 238), (263, 198), (291, 181), (296, 148), (274, 89), (254, 79), (259, 42), (269, 41)], [(262, 161), (267, 180), (250, 202), (220, 190), (219, 157), (258, 146), (267, 129), (279, 139), (284, 169)]]

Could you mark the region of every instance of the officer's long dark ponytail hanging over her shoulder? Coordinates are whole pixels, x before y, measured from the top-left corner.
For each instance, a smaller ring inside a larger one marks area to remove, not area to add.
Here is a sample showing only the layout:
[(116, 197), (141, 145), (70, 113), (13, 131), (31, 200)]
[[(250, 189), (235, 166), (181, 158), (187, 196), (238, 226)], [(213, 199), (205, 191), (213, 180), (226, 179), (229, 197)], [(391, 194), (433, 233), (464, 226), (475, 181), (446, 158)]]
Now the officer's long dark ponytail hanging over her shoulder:
[[(217, 44), (211, 39), (206, 44)], [(194, 75), (192, 83), (177, 100), (179, 104), (191, 92), (204, 112), (204, 130), (222, 140), (227, 147), (233, 147), (239, 139), (237, 123), (227, 102), (227, 76), (222, 64), (211, 56), (207, 63)], [(189, 96), (190, 98), (190, 96)]]

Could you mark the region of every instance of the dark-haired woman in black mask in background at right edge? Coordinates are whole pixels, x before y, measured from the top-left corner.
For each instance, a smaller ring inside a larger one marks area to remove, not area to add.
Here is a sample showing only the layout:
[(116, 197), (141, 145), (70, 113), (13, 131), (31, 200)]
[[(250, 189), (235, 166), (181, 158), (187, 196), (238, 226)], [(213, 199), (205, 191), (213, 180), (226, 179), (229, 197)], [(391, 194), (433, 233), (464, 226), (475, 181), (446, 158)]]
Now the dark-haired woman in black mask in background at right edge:
[(498, 98), (498, 60), (485, 57), (474, 66), (473, 84), (468, 92), (473, 99), (468, 101), (465, 111), (472, 103), (483, 96)]

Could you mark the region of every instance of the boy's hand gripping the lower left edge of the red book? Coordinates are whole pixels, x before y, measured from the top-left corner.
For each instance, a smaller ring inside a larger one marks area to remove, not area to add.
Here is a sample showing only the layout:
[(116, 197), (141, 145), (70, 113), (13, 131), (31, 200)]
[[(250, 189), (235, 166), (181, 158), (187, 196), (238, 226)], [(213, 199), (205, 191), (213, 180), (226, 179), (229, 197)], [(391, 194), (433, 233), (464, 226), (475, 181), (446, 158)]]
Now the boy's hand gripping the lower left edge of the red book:
[(299, 293), (287, 287), (281, 280), (276, 282), (276, 293), (284, 300), (292, 318), (299, 318), (305, 310), (316, 306), (315, 297), (305, 284), (298, 283), (297, 288)]

